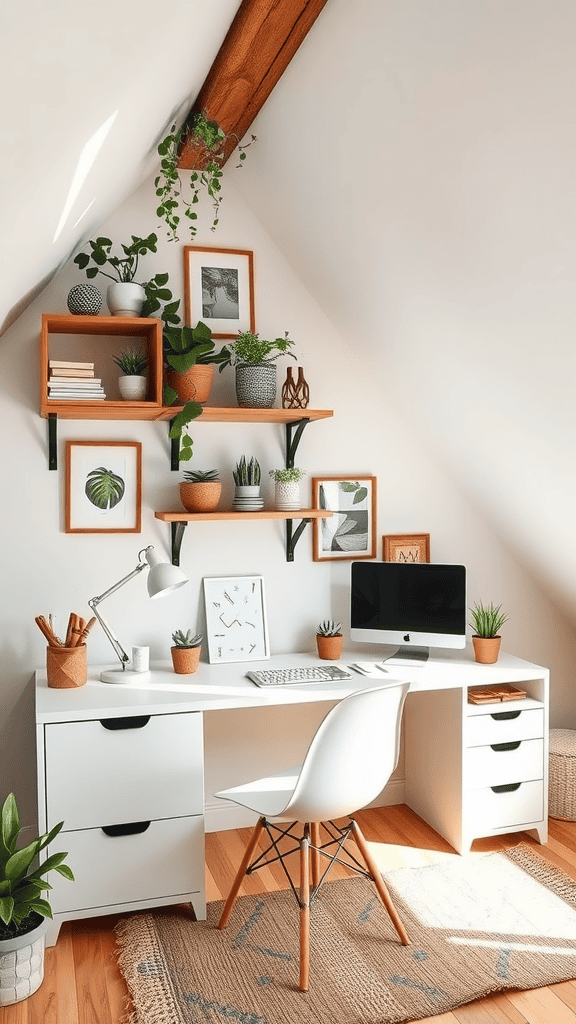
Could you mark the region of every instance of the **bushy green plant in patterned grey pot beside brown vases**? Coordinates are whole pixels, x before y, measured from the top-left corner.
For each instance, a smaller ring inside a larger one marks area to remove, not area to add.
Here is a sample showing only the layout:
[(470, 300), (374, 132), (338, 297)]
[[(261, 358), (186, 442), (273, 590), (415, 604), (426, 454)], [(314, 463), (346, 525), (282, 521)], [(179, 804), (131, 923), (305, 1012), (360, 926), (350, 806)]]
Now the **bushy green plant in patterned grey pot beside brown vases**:
[(244, 331), (237, 341), (222, 347), (218, 356), (220, 373), (225, 367), (236, 368), (236, 398), (241, 409), (273, 408), (278, 390), (276, 359), (281, 355), (295, 359), (290, 351), (293, 344), (288, 331), (274, 341)]

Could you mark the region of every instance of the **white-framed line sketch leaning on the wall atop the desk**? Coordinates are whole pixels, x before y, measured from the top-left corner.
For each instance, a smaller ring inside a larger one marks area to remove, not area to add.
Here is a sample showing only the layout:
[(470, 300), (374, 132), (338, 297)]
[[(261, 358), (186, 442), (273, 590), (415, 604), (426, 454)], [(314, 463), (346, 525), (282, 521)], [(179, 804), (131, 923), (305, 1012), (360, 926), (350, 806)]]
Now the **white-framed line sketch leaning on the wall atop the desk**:
[(262, 577), (205, 577), (210, 665), (270, 657)]

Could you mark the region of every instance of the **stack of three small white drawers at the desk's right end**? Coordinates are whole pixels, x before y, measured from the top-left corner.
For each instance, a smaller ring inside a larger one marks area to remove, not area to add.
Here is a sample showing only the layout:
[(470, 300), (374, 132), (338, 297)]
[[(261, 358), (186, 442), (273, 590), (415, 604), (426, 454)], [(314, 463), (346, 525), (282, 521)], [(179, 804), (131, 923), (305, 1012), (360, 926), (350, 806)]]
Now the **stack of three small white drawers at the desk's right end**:
[(510, 705), (468, 712), (465, 806), (476, 836), (513, 830), (544, 817), (544, 709), (531, 698), (526, 707)]

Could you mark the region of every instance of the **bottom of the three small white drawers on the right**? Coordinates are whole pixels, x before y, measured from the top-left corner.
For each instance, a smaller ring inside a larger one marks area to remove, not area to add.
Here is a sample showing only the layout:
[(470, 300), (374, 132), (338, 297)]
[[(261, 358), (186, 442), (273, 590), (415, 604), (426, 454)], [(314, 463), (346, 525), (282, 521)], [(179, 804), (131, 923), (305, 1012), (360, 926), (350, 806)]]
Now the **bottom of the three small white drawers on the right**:
[[(513, 784), (513, 783), (511, 783)], [(465, 797), (465, 806), (476, 836), (492, 828), (517, 827), (541, 821), (544, 814), (544, 783), (520, 782), (513, 790), (477, 790)]]

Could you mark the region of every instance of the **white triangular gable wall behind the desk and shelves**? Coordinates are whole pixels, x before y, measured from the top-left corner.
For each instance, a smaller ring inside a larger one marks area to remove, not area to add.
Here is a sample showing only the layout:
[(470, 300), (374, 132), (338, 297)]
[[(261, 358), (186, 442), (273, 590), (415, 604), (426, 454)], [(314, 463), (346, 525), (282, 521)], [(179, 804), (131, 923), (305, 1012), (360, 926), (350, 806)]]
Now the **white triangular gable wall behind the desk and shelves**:
[[(383, 400), (381, 376), (374, 373), (371, 358), (359, 358), (357, 339), (342, 338), (312, 299), (305, 284), (239, 199), (234, 170), (227, 172), (224, 184), (218, 234), (210, 233), (206, 219), (197, 244), (254, 251), (257, 329), (262, 336), (290, 331), (310, 383), (311, 407), (334, 410), (333, 419), (313, 423), (304, 431), (299, 464), (308, 477), (324, 473), (377, 476), (378, 555), (382, 534), (429, 531), (433, 560), (467, 564), (470, 600), (501, 600), (510, 610), (506, 648), (552, 669), (552, 722), (576, 725), (571, 707), (571, 629), (442, 466), (433, 461), (423, 439), (401, 422)], [(101, 225), (102, 232), (121, 241), (130, 233), (153, 230), (157, 225), (151, 214), (151, 197), (149, 181)], [(181, 245), (163, 243), (148, 266), (152, 272), (168, 270), (173, 290), (181, 294)], [(60, 469), (48, 471), (46, 421), (38, 415), (41, 313), (66, 312), (68, 292), (81, 280), (77, 268), (67, 265), (5, 334), (0, 345), (4, 469), (0, 511), (4, 584), (0, 599), (0, 773), (2, 791), (16, 793), (25, 821), (34, 817), (31, 676), (45, 656), (34, 616), (51, 612), (61, 630), (71, 610), (86, 615), (88, 598), (101, 593), (135, 565), (141, 547), (154, 544), (168, 555), (169, 527), (154, 518), (154, 510), (179, 507), (180, 474), (170, 471), (166, 424), (63, 421), (58, 424)], [(284, 369), (285, 362), (282, 379)], [(213, 400), (235, 403), (230, 371), (217, 380)], [(266, 479), (269, 468), (282, 465), (281, 428), (198, 424), (194, 437), (194, 465), (218, 467), (229, 497), (231, 470), (242, 454), (257, 456)], [(140, 535), (64, 532), (61, 467), (67, 438), (142, 442)], [(272, 499), (272, 481), (266, 490), (266, 497)], [(307, 503), (308, 478), (302, 495)], [(263, 574), (273, 652), (314, 649), (320, 618), (335, 616), (347, 622), (348, 563), (315, 563), (310, 527), (296, 548), (295, 561), (287, 563), (283, 526), (275, 521), (191, 524), (184, 534), (181, 564), (190, 585), (162, 601), (152, 604), (138, 579), (107, 601), (106, 614), (122, 641), (127, 645), (150, 644), (153, 658), (169, 657), (174, 629), (202, 628), (201, 581), (205, 575)], [(112, 648), (98, 629), (89, 641), (89, 659), (92, 664), (114, 664)], [(321, 709), (316, 711), (320, 714)], [(251, 717), (246, 712), (244, 717), (242, 730), (227, 716), (218, 723), (212, 717), (207, 723), (213, 751), (208, 759), (208, 793), (230, 779), (220, 752), (227, 752), (230, 763), (241, 760), (250, 771), (250, 751), (260, 742), (261, 721), (256, 713)], [(312, 732), (317, 720), (318, 715), (311, 710), (305, 728)], [(271, 735), (278, 736), (271, 745), (280, 760), (305, 741), (301, 721), (291, 722), (289, 728), (286, 723), (287, 719), (277, 722), (274, 716), (268, 723)]]

